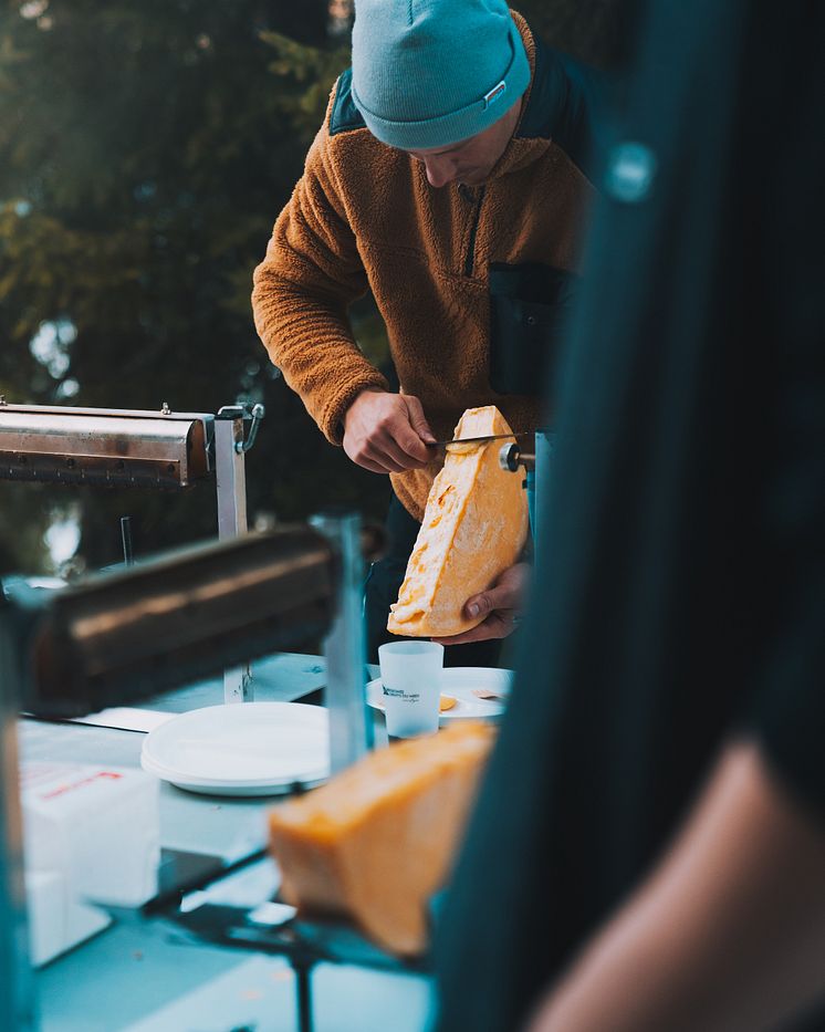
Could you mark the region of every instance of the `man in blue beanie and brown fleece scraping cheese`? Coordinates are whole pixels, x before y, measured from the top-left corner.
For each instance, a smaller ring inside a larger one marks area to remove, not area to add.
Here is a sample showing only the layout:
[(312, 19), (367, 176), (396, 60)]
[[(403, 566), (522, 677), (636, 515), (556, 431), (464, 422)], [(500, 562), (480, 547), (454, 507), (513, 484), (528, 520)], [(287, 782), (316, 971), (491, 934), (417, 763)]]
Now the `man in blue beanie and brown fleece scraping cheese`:
[[(370, 654), (386, 633), (461, 413), (539, 417), (593, 195), (591, 80), (503, 0), (361, 0), (303, 178), (255, 270), (255, 324), (326, 437), (388, 473), (389, 554), (367, 584)], [(358, 351), (347, 305), (372, 290), (400, 393)], [(494, 665), (524, 570), (467, 602), (488, 618), (451, 660)]]

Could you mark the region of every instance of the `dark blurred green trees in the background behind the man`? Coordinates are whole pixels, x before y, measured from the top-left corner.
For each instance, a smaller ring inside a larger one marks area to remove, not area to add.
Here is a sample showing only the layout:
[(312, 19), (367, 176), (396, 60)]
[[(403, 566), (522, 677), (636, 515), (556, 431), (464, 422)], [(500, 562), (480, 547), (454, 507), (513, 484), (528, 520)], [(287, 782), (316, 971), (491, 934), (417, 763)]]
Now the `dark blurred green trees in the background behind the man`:
[[(619, 52), (616, 0), (520, 6), (556, 45)], [(620, 25), (619, 25), (620, 27)], [(385, 478), (331, 448), (254, 333), (253, 267), (348, 63), (328, 0), (7, 0), (0, 9), (0, 394), (11, 402), (216, 411), (262, 400), (252, 518), (380, 515)], [(368, 302), (356, 336), (386, 361)], [(212, 488), (93, 491), (0, 480), (0, 573), (46, 570), (80, 520), (80, 565), (213, 533)]]

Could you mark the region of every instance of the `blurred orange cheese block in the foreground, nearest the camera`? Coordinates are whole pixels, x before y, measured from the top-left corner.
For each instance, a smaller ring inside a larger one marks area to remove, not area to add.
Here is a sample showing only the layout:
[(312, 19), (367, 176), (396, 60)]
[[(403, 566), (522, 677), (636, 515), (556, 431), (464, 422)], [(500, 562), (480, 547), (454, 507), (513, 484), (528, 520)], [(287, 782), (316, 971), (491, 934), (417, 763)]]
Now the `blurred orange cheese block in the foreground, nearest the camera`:
[(420, 953), (493, 733), (462, 721), (379, 749), (271, 811), (283, 898), (304, 915), (354, 921), (390, 952)]

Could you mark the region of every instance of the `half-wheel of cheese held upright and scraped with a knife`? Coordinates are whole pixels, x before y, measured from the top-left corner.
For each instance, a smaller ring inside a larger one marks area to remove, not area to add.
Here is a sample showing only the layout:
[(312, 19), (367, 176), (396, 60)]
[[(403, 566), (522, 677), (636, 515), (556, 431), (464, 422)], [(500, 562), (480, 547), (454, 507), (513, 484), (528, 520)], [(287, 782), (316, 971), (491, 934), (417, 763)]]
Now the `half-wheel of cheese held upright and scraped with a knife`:
[[(509, 434), (494, 405), (468, 408), (455, 438)], [(513, 438), (514, 439), (514, 438)], [(523, 477), (499, 465), (507, 441), (453, 445), (436, 477), (407, 573), (387, 629), (405, 637), (449, 637), (469, 630), (463, 605), (518, 560), (528, 536)]]

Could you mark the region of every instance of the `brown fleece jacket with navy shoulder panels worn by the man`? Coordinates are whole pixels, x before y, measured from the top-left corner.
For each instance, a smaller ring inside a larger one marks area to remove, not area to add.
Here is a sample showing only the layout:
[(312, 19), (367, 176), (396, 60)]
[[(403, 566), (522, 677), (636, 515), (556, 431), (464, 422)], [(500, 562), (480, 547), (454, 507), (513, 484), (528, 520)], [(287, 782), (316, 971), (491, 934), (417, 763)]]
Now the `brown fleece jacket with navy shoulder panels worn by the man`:
[[(358, 351), (346, 317), (367, 289), (386, 323), (401, 390), (420, 398), (437, 438), (451, 436), (462, 411), (481, 405), (497, 405), (514, 429), (535, 428), (535, 398), (500, 395), (489, 383), (488, 267), (540, 262), (575, 270), (593, 188), (535, 117), (547, 90), (560, 92), (558, 72), (545, 70), (539, 90), (537, 43), (521, 15), (513, 17), (533, 81), (519, 127), (483, 189), (429, 186), (421, 164), (364, 126), (345, 73), (275, 222), (254, 273), (255, 325), (333, 444), (342, 442), (344, 414), (361, 390), (389, 389)], [(561, 91), (566, 96), (566, 83)], [(523, 135), (526, 123), (534, 128)], [(440, 465), (391, 477), (417, 520)]]

